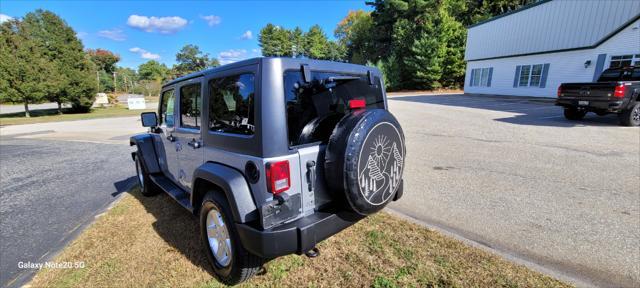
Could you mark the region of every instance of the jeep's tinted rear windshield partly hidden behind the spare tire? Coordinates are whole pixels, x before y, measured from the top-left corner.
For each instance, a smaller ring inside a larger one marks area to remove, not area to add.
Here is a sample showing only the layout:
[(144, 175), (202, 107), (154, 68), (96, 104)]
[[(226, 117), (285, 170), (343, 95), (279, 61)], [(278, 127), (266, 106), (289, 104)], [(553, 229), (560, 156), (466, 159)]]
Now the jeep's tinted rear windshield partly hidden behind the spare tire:
[[(374, 77), (373, 85), (369, 85), (367, 75), (312, 71), (311, 78), (310, 83), (305, 83), (301, 71), (284, 73), (290, 146), (328, 141), (337, 121), (349, 111), (349, 100), (363, 99), (367, 109), (384, 109), (379, 77)], [(305, 137), (303, 130), (307, 136), (309, 131), (320, 132)]]

